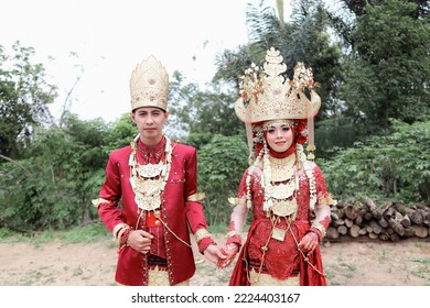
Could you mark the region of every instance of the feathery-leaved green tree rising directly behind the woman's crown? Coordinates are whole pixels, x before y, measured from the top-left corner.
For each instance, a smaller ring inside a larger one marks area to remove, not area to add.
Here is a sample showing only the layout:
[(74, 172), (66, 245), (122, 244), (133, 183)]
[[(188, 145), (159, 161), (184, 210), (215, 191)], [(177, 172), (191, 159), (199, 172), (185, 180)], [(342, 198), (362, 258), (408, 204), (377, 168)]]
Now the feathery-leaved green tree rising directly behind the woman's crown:
[(237, 53), (225, 51), (223, 55), (217, 56), (218, 72), (214, 80), (225, 79), (237, 86), (238, 75), (241, 75), (251, 63), (262, 64), (266, 51), (275, 46), (284, 57), (290, 78), (298, 62), (313, 68), (314, 79), (320, 84), (318, 92), (324, 102), (319, 118), (334, 114), (338, 109), (336, 96), (341, 78), (341, 50), (331, 41), (323, 2), (298, 1), (291, 20), (286, 22), (282, 18), (279, 10), (277, 13), (275, 8), (266, 6), (265, 1), (258, 7), (248, 4), (247, 25), (250, 43), (248, 46), (239, 47)]

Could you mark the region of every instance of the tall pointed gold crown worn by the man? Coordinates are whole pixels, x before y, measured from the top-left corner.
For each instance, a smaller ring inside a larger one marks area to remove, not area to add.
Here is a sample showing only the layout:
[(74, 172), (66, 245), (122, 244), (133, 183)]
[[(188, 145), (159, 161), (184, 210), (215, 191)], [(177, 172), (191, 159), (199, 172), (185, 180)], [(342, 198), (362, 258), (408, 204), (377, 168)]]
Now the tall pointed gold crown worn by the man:
[(131, 73), (131, 110), (139, 107), (168, 108), (169, 75), (163, 65), (149, 56)]

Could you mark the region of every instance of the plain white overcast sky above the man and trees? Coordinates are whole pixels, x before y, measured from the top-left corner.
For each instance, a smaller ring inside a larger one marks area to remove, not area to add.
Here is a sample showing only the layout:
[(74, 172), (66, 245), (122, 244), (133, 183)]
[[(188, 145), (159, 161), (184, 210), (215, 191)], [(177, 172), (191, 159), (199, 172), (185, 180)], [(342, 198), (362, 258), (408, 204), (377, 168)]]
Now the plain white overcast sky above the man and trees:
[(55, 118), (82, 75), (71, 111), (84, 120), (115, 121), (129, 111), (132, 69), (151, 54), (169, 74), (179, 70), (189, 81), (208, 82), (215, 55), (247, 43), (248, 2), (0, 0), (0, 45), (8, 54), (17, 41), (35, 50), (35, 62), (58, 87), (51, 107)]

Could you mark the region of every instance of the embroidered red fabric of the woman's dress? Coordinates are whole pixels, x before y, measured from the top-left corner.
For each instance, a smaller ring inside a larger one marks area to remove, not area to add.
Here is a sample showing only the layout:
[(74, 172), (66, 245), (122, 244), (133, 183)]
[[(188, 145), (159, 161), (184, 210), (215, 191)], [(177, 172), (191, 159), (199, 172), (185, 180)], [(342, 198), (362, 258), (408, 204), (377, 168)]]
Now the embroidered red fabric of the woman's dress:
[[(249, 169), (248, 169), (249, 170)], [(238, 191), (238, 198), (245, 198), (247, 193), (246, 178), (248, 170), (245, 173)], [(239, 262), (236, 264), (230, 282), (230, 285), (249, 285), (246, 278), (246, 271), (250, 260), (255, 264), (256, 260), (262, 262), (262, 267), (273, 277), (278, 279), (287, 279), (290, 275), (294, 275), (300, 268), (300, 277), (302, 285), (326, 285), (325, 277), (304, 262), (303, 256), (297, 248), (297, 243), (311, 229), (311, 208), (310, 208), (310, 188), (309, 179), (303, 170), (299, 172), (299, 189), (297, 193), (298, 211), (297, 218), (290, 224), (280, 219), (277, 228), (287, 230), (283, 241), (272, 239), (272, 222), (264, 211), (264, 187), (260, 180), (261, 170), (255, 172), (251, 175), (250, 190), (252, 200), (252, 223), (248, 231), (247, 240), (239, 255)], [(316, 184), (316, 196), (322, 199), (327, 196), (324, 176), (316, 164), (313, 166), (313, 174)], [(318, 205), (315, 205), (318, 207)], [(329, 221), (326, 221), (329, 222)], [(327, 224), (327, 223), (326, 223)], [(327, 228), (327, 226), (324, 226)], [(262, 248), (267, 246), (264, 253)], [(309, 262), (315, 266), (321, 273), (322, 257), (318, 248), (312, 255), (309, 255)], [(259, 264), (261, 265), (261, 264)], [(256, 265), (254, 265), (256, 266)], [(256, 268), (258, 270), (258, 268)]]

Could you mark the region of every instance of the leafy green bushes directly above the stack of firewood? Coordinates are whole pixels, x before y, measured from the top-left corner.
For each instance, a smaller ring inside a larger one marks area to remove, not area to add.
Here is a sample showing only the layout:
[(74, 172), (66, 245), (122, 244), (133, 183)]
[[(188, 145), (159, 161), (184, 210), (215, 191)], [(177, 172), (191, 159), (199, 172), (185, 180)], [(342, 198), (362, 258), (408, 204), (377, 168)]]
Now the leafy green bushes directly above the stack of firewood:
[(394, 132), (340, 150), (319, 162), (338, 199), (369, 196), (402, 202), (430, 200), (430, 121), (394, 121)]

